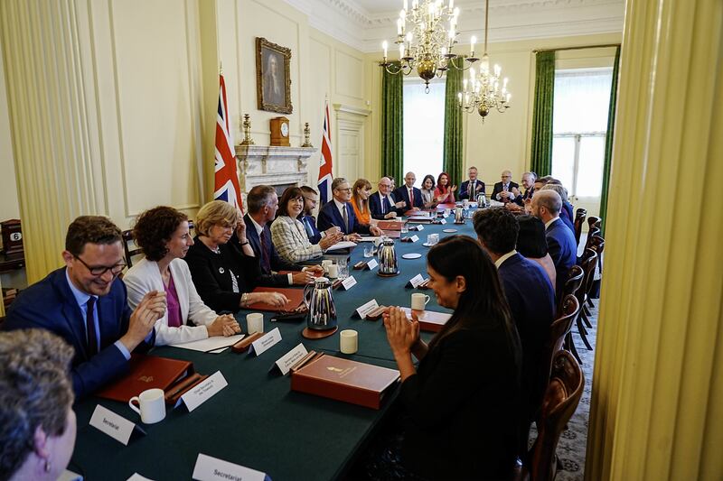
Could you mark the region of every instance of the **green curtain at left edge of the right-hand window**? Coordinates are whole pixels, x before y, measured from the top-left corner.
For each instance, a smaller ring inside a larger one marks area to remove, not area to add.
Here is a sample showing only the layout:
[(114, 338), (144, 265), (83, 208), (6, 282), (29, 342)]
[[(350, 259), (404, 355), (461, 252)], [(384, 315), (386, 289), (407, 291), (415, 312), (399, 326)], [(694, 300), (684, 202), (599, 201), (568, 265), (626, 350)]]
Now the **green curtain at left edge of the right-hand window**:
[(530, 170), (538, 177), (552, 173), (552, 110), (555, 103), (555, 51), (536, 54), (535, 105), (532, 114)]

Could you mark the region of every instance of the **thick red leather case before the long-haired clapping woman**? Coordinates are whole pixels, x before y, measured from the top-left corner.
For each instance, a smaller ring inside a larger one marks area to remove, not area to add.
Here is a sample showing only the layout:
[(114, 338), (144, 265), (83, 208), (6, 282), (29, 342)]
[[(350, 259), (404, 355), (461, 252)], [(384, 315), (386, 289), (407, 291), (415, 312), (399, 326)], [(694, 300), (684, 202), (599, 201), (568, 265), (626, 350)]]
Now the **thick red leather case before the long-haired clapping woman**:
[(292, 373), (291, 390), (380, 409), (398, 380), (395, 369), (320, 356)]

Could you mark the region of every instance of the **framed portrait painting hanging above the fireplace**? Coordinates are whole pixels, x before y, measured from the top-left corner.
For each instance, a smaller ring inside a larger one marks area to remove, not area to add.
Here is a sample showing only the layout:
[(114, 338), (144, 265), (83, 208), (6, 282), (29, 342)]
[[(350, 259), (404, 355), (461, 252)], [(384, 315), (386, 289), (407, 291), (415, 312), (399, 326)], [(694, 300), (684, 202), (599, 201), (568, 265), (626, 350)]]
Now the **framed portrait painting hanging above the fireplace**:
[(291, 114), (291, 49), (256, 38), (258, 109)]

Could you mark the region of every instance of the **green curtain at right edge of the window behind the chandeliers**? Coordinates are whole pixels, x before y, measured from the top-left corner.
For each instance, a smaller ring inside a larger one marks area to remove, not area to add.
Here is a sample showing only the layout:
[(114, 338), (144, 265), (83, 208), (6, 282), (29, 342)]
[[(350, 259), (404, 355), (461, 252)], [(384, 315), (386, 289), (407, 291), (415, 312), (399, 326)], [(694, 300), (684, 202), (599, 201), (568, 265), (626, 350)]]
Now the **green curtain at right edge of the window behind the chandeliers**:
[(457, 104), (457, 92), (462, 91), (462, 76), (457, 69), (446, 71), (445, 88), (445, 150), (442, 169), (449, 173), (450, 182), (456, 184), (462, 176), (462, 109)]

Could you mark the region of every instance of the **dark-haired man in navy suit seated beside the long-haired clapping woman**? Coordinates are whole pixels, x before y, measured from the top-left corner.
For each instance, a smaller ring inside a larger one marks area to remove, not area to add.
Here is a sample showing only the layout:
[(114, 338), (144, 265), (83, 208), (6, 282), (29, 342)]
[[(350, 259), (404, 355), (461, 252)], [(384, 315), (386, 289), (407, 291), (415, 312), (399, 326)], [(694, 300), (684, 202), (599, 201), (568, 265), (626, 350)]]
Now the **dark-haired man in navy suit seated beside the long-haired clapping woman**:
[(540, 408), (549, 375), (544, 358), (549, 327), (555, 316), (555, 291), (545, 270), (515, 250), (520, 226), (505, 208), (486, 208), (474, 214), (474, 231), (490, 255), (510, 304), (522, 345), (522, 393), (525, 417), (521, 425), (521, 452), (527, 449), (530, 423)]

